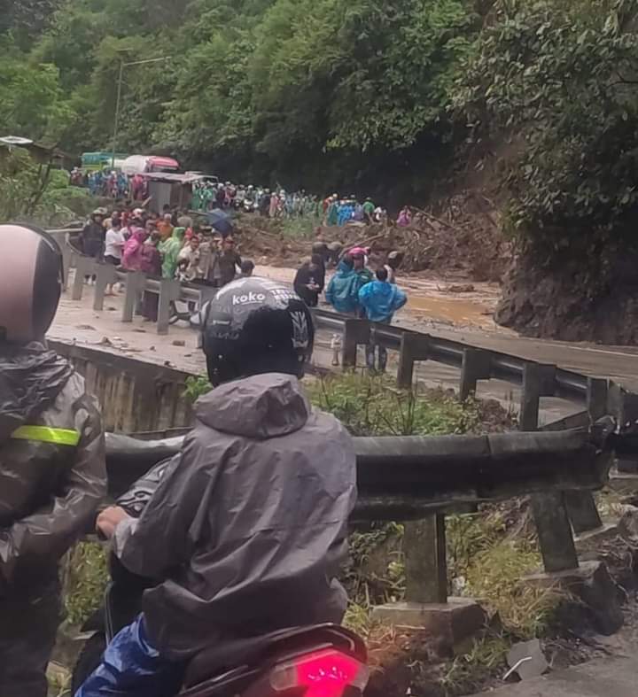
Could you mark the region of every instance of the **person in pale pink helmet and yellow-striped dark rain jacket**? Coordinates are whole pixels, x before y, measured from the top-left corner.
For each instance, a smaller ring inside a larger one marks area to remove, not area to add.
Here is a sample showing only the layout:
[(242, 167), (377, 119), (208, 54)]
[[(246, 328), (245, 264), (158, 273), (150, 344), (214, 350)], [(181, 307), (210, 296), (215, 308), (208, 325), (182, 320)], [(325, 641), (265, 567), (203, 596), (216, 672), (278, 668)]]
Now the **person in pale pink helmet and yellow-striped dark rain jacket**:
[(104, 435), (82, 377), (44, 342), (61, 290), (58, 245), (0, 225), (0, 255), (0, 695), (45, 697), (58, 561), (105, 494)]

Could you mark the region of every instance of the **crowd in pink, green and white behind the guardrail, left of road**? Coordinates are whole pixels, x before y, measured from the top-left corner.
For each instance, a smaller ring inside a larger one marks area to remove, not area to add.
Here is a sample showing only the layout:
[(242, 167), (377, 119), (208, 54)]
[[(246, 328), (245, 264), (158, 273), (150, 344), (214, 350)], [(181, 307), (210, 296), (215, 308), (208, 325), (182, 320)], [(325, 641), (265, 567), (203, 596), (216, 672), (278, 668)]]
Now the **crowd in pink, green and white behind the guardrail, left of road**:
[[(143, 208), (115, 210), (97, 208), (82, 228), (82, 252), (127, 271), (221, 288), (237, 275), (252, 275), (254, 264), (241, 259), (230, 234), (216, 232), (193, 222), (191, 216), (167, 210), (162, 215)], [(87, 276), (91, 283), (94, 277)], [(117, 289), (109, 286), (107, 295)], [(144, 316), (157, 318), (158, 298), (144, 293)]]

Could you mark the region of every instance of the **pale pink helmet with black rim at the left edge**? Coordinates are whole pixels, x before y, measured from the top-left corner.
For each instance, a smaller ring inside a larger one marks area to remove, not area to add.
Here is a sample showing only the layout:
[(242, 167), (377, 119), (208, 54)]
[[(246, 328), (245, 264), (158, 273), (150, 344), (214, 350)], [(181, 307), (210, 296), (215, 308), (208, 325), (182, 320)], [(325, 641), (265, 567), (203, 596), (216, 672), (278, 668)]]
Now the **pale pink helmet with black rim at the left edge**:
[(0, 341), (28, 344), (44, 338), (62, 291), (62, 252), (44, 230), (0, 225)]

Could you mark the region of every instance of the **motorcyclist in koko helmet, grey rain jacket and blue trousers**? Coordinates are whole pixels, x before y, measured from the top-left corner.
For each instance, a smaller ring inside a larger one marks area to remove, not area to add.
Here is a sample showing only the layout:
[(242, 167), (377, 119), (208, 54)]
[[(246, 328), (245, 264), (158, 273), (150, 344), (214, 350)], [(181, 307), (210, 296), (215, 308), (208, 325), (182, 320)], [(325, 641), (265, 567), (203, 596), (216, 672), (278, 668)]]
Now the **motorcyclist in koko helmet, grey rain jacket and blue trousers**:
[(307, 306), (280, 283), (240, 279), (206, 306), (202, 340), (215, 387), (182, 452), (141, 517), (111, 507), (97, 521), (124, 566), (157, 585), (76, 697), (174, 697), (199, 651), (338, 623), (346, 609), (354, 447), (301, 390)]

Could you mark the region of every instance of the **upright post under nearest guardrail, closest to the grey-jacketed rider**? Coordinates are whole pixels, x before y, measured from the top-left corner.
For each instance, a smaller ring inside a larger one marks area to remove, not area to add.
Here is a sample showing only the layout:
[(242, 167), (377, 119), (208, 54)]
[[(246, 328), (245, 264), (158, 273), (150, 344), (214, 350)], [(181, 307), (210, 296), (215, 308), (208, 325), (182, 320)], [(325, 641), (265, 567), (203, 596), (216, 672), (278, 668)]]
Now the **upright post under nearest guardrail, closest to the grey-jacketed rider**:
[(447, 602), (445, 515), (405, 523), (403, 559), (408, 602)]

